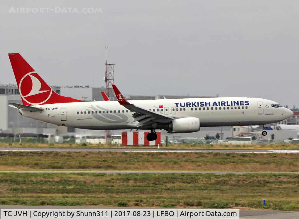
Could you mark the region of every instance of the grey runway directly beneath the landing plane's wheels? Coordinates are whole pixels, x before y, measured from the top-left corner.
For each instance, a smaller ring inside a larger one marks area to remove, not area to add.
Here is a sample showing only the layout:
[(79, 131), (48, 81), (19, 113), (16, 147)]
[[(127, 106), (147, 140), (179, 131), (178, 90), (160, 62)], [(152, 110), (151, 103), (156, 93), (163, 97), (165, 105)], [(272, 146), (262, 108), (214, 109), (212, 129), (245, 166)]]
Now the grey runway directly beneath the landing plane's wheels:
[(0, 148), (0, 151), (65, 151), (65, 152), (202, 152), (202, 153), (299, 153), (299, 150), (256, 149), (146, 149), (146, 148)]

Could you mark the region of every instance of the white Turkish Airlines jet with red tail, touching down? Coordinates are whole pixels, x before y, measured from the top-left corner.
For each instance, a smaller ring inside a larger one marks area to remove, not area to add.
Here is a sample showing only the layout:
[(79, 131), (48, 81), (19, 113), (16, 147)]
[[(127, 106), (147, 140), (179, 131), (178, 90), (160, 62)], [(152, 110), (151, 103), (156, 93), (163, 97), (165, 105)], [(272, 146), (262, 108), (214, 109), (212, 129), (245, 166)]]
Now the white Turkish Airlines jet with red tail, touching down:
[(19, 53), (8, 54), (23, 104), (10, 103), (22, 116), (93, 130), (156, 130), (191, 133), (200, 127), (276, 125), (293, 112), (275, 101), (261, 98), (221, 97), (127, 101), (112, 85), (117, 101), (84, 102), (55, 93)]

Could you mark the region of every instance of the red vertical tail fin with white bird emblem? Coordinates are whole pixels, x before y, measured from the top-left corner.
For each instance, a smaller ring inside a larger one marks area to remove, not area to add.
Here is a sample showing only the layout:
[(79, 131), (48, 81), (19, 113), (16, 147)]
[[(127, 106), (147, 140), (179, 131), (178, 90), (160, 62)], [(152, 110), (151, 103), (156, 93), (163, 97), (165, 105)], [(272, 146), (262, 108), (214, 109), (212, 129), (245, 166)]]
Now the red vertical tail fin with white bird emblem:
[(55, 93), (19, 53), (9, 53), (8, 57), (24, 105), (83, 102)]

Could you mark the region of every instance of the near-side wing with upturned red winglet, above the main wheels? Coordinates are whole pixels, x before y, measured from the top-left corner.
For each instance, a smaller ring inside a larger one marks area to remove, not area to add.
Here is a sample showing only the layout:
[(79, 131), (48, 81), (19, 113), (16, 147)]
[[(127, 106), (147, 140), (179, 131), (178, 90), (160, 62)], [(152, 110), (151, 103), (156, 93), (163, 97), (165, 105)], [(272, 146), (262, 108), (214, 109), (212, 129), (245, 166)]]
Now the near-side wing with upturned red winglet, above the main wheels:
[(134, 119), (131, 122), (138, 121), (138, 124), (136, 127), (142, 127), (147, 125), (155, 126), (154, 123), (167, 123), (173, 120), (174, 118), (172, 116), (164, 115), (159, 112), (153, 112), (147, 109), (144, 109), (142, 107), (135, 106), (134, 104), (130, 104), (120, 93), (118, 88), (112, 84), (113, 90), (115, 92), (115, 96), (118, 100), (118, 103), (122, 105), (123, 107), (126, 107), (128, 110), (134, 112), (133, 117)]

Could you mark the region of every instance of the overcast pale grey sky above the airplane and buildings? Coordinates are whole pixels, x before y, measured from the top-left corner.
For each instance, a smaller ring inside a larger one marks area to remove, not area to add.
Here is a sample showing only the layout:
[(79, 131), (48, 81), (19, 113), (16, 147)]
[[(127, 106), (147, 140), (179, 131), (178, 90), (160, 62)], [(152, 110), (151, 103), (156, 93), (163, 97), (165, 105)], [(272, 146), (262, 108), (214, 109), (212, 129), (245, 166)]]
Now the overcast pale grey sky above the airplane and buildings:
[(16, 83), (7, 53), (19, 52), (50, 85), (104, 86), (109, 46), (123, 94), (251, 96), (299, 107), (299, 1), (2, 0), (0, 6), (1, 83)]

